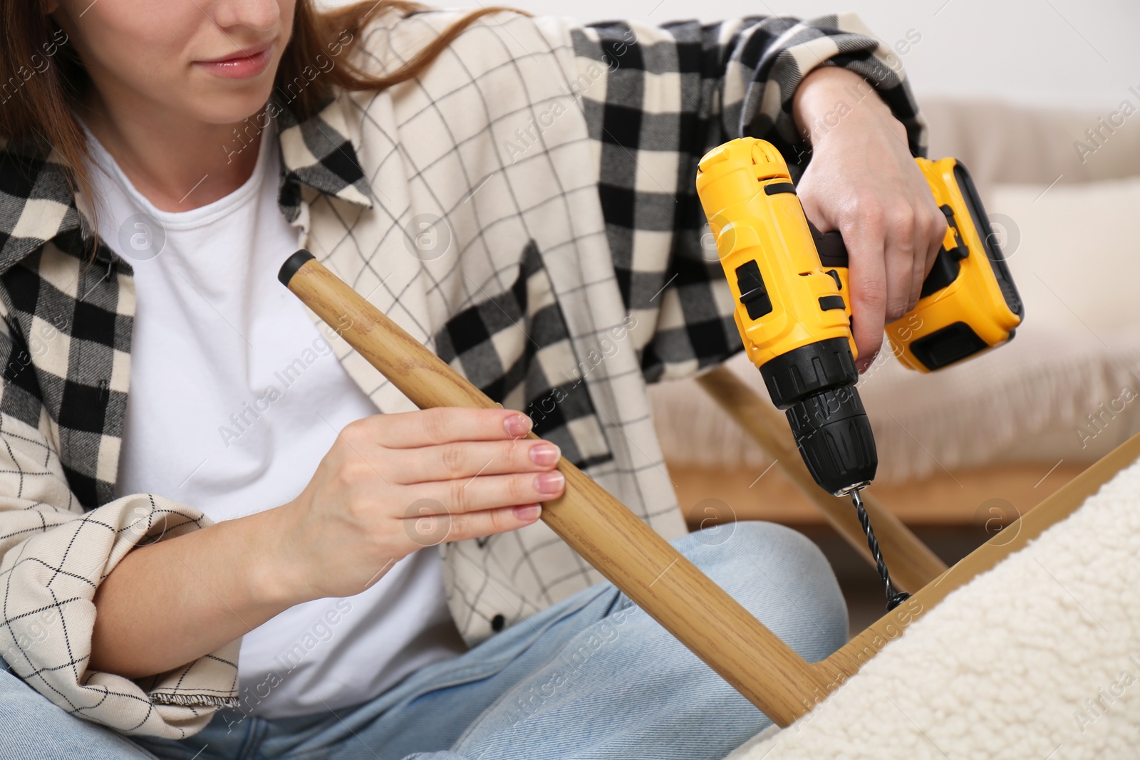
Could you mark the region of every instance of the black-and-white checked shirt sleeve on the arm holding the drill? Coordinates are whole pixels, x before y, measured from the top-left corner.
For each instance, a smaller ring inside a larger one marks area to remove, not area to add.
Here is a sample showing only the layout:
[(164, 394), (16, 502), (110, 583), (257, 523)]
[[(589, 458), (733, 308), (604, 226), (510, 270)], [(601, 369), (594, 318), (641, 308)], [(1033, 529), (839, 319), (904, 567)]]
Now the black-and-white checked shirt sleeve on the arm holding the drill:
[[(793, 179), (811, 152), (791, 116), (804, 76), (842, 66), (868, 83), (926, 153), (901, 60), (852, 14), (749, 16), (570, 31), (606, 237), (649, 382), (684, 377), (741, 350), (731, 291), (697, 195), (697, 164), (734, 138), (771, 141)], [(865, 92), (870, 95), (870, 92)]]

